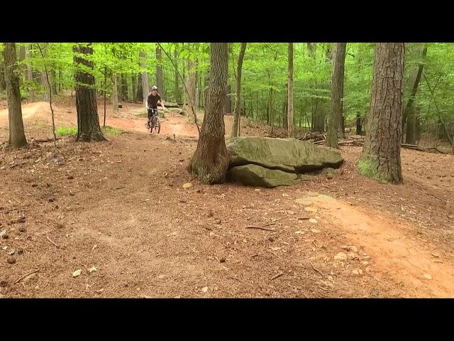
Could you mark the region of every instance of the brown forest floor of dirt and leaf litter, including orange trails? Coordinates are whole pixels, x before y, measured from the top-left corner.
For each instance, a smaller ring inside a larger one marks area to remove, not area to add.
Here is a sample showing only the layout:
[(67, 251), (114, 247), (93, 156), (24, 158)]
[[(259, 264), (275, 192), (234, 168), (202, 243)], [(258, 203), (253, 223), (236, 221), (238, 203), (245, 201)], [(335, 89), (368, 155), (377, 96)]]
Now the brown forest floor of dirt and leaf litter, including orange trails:
[[(403, 185), (362, 178), (361, 148), (346, 146), (333, 179), (203, 185), (186, 171), (194, 124), (167, 114), (150, 135), (140, 107), (109, 108), (124, 134), (67, 136), (57, 157), (52, 142), (0, 148), (0, 297), (454, 297), (453, 156), (403, 149)], [(76, 124), (74, 97), (54, 109)], [(1, 142), (7, 116), (0, 103)], [(51, 136), (47, 103), (23, 117), (28, 141)]]

